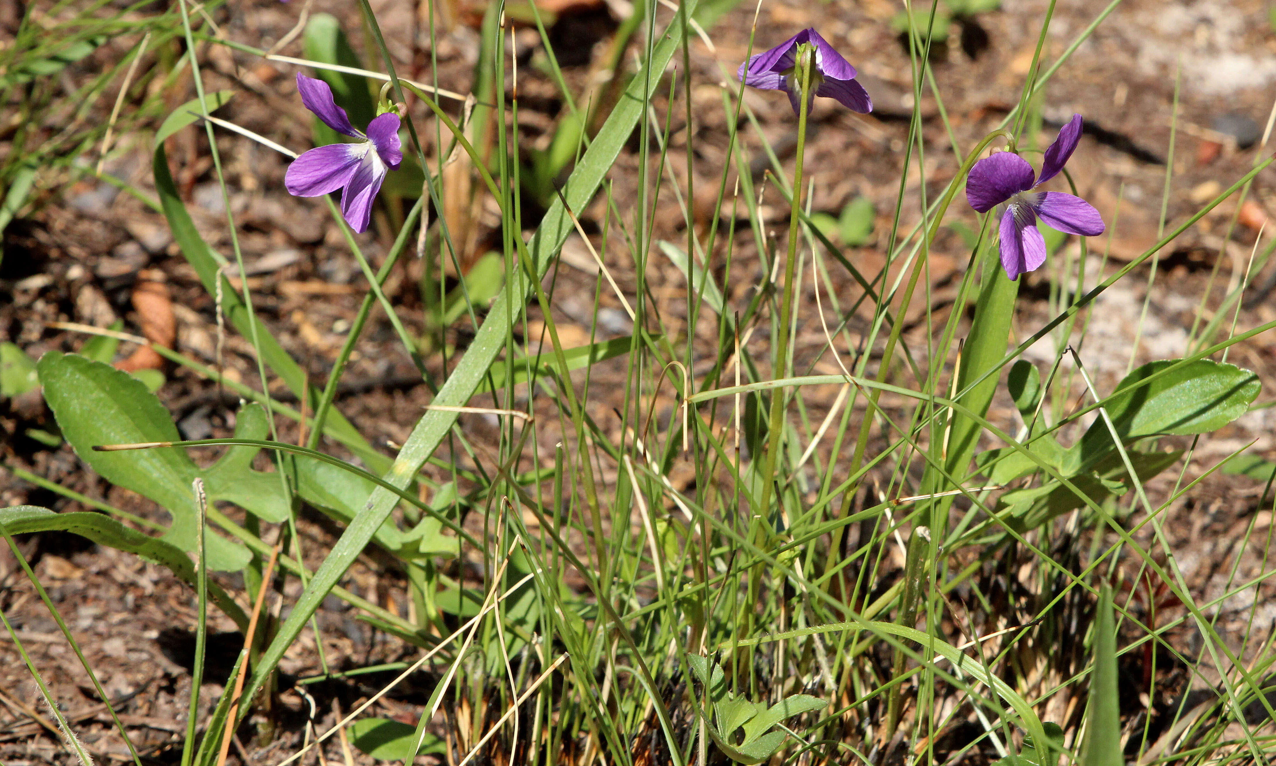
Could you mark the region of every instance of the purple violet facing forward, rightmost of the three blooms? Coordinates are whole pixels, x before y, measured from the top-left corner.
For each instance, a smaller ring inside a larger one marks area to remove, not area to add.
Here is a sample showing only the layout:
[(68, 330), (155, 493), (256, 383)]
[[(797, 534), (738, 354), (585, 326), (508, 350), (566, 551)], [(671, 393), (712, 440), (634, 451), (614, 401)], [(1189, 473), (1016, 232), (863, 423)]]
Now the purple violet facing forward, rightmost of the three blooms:
[(1085, 199), (1063, 192), (1032, 192), (1059, 175), (1079, 140), (1081, 115), (1073, 115), (1045, 151), (1040, 176), (1035, 176), (1027, 160), (1012, 152), (997, 152), (970, 169), (966, 179), (970, 207), (981, 213), (997, 206), (1004, 208), (999, 239), (1007, 277), (1017, 280), (1045, 263), (1045, 239), (1036, 227), (1039, 217), (1065, 234), (1095, 236), (1104, 232), (1099, 211)]

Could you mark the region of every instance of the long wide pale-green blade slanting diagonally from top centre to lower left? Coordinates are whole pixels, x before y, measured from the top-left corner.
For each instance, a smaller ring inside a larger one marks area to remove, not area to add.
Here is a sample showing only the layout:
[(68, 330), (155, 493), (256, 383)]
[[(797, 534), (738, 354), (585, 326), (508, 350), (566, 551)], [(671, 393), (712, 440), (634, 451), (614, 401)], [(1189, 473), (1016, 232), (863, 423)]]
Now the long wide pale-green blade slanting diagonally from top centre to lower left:
[[(688, 0), (684, 6), (688, 13), (694, 13), (695, 0)], [(629, 140), (634, 126), (638, 124), (638, 119), (646, 114), (648, 106), (647, 96), (658, 89), (657, 83), (664, 77), (669, 63), (674, 57), (674, 52), (681, 43), (681, 31), (683, 24), (671, 23), (662, 36), (652, 41), (651, 57), (635, 73), (629, 87), (611, 110), (606, 123), (604, 123), (597, 135), (595, 135), (590, 148), (584, 152), (581, 161), (577, 162), (575, 169), (564, 185), (563, 198), (570, 209), (584, 209), (597, 192), (605, 175), (611, 170), (621, 148)], [(161, 165), (163, 165), (162, 170), (167, 175), (167, 165), (163, 162), (162, 154), (157, 152), (157, 177), (161, 172)], [(168, 185), (172, 185), (171, 176), (168, 176)], [(180, 203), (175, 193), (172, 202)], [(185, 211), (182, 211), (182, 214), (185, 216)], [(513, 278), (498, 294), (495, 300), (491, 301), (491, 309), (487, 312), (482, 326), (475, 333), (466, 354), (461, 357), (461, 361), (447, 382), (439, 388), (433, 401), (434, 405), (443, 405), (445, 407), (463, 406), (475, 394), (482, 384), (484, 378), (487, 377), (489, 370), (491, 370), (496, 355), (505, 347), (505, 341), (517, 318), (517, 314), (512, 313), (510, 308), (524, 304), (531, 286), (530, 278), (538, 280), (544, 277), (554, 262), (554, 254), (563, 246), (564, 240), (572, 231), (574, 231), (574, 226), (563, 200), (555, 199), (541, 220), (536, 234), (527, 244), (530, 262), (536, 266), (537, 272), (527, 274), (523, 269), (514, 271)], [(207, 283), (211, 283), (211, 281)], [(384, 474), (385, 480), (394, 486), (406, 488), (421, 466), (425, 465), (425, 461), (434, 454), (434, 451), (443, 439), (452, 432), (457, 416), (457, 411), (445, 409), (433, 409), (422, 415), (412, 428), (412, 433), (403, 442), (403, 447), (399, 449), (393, 467)], [(262, 652), (260, 660), (253, 669), (253, 678), (244, 689), (245, 698), (255, 696), (265, 680), (273, 675), (283, 654), (292, 646), (301, 631), (305, 629), (310, 617), (319, 609), (328, 592), (373, 540), (376, 531), (389, 518), (398, 503), (398, 494), (384, 488), (373, 490), (366, 506), (360, 508), (359, 514), (346, 527), (346, 531), (336, 545), (333, 545), (332, 552), (297, 599), (292, 612), (283, 624), (279, 626), (274, 640)], [(240, 715), (248, 715), (248, 710), (242, 710)]]

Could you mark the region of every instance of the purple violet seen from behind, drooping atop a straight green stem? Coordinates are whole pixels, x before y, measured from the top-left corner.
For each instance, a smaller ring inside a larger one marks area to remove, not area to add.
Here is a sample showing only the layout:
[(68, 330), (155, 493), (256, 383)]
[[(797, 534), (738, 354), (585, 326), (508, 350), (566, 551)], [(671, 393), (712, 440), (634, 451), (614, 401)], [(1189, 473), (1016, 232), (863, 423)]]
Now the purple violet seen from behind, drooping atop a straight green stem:
[(810, 109), (815, 96), (824, 96), (836, 98), (842, 106), (855, 112), (868, 114), (873, 111), (873, 100), (869, 98), (868, 91), (855, 82), (855, 68), (814, 29), (803, 29), (769, 51), (752, 56), (740, 64), (736, 77), (744, 84), (754, 88), (787, 92), (789, 102), (796, 115), (801, 106), (801, 102), (798, 101), (796, 49), (803, 43), (810, 43), (815, 49), (815, 65), (810, 73), (813, 93), (806, 97), (808, 109)]

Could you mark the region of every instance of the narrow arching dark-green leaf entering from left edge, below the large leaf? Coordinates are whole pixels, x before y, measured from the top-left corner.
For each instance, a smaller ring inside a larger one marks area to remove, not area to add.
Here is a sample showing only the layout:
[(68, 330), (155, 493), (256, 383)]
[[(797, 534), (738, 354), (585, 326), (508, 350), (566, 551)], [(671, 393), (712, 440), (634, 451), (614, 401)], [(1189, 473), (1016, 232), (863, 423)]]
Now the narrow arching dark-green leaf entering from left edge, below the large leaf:
[[(190, 560), (190, 557), (181, 549), (165, 540), (129, 529), (102, 513), (54, 513), (47, 508), (15, 506), (0, 509), (0, 525), (4, 525), (4, 529), (10, 535), (48, 531), (71, 532), (87, 537), (98, 545), (133, 553), (148, 562), (154, 562), (166, 567), (186, 585), (195, 587), (195, 566)], [(208, 594), (212, 596), (213, 603), (227, 617), (235, 620), (240, 631), (248, 629), (248, 615), (244, 614), (244, 610), (239, 608), (235, 600), (221, 586), (209, 581)]]

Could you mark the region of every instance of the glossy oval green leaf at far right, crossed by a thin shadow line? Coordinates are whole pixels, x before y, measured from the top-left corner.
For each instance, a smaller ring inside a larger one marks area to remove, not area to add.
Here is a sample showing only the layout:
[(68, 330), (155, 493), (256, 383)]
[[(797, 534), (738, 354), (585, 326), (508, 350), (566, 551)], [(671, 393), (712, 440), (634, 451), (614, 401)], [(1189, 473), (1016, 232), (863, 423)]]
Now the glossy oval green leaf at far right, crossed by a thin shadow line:
[[(1258, 375), (1231, 364), (1199, 359), (1166, 372), (1176, 364), (1175, 360), (1145, 364), (1127, 375), (1116, 386), (1118, 393), (1104, 402), (1122, 442), (1216, 430), (1244, 415), (1262, 388)], [(1150, 383), (1139, 384), (1154, 377)], [(1082, 465), (1114, 448), (1102, 417), (1090, 425), (1073, 448), (1079, 451)]]

